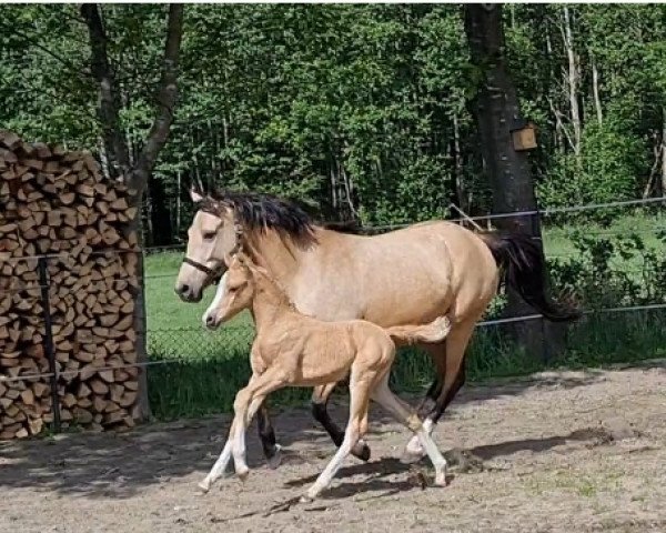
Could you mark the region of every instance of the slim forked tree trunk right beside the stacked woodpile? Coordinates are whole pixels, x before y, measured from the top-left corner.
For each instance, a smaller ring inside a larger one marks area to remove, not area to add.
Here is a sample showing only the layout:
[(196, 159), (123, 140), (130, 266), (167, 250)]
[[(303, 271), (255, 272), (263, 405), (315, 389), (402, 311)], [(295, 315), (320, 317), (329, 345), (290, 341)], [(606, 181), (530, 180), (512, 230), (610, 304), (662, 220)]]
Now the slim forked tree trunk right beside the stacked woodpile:
[[(92, 72), (98, 81), (100, 91), (99, 119), (102, 124), (102, 134), (107, 147), (107, 155), (114, 171), (121, 175), (132, 190), (131, 207), (138, 208), (138, 215), (128, 224), (127, 232), (137, 232), (139, 247), (143, 245), (141, 232), (141, 205), (143, 193), (148, 188), (149, 178), (154, 169), (158, 154), (169, 135), (173, 121), (173, 109), (175, 107), (178, 87), (178, 58), (182, 37), (183, 6), (172, 3), (169, 6), (167, 23), (167, 41), (162, 59), (162, 76), (158, 93), (157, 113), (151, 130), (145, 139), (143, 148), (130, 163), (130, 151), (128, 142), (120, 129), (120, 99), (115, 79), (109, 62), (107, 50), (107, 33), (102, 23), (101, 8), (97, 3), (81, 6), (81, 14), (88, 26), (91, 49)], [(137, 332), (137, 360), (142, 363), (148, 359), (145, 351), (145, 294), (143, 253), (139, 253), (138, 273), (141, 283), (134, 295), (134, 330)], [(148, 384), (145, 372), (141, 372), (140, 382), (140, 406), (144, 418), (150, 415), (148, 403)]]

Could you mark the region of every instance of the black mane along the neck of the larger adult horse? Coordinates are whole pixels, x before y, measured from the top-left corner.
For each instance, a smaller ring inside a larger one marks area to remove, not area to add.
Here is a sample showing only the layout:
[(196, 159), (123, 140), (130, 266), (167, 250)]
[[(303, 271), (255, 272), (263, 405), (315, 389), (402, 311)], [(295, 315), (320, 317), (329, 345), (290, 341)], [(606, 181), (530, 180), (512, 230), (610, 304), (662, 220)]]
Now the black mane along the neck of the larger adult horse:
[(218, 191), (204, 198), (201, 210), (219, 214), (220, 207), (233, 209), (239, 222), (252, 229), (282, 231), (296, 239), (312, 237), (311, 218), (295, 203), (258, 192)]

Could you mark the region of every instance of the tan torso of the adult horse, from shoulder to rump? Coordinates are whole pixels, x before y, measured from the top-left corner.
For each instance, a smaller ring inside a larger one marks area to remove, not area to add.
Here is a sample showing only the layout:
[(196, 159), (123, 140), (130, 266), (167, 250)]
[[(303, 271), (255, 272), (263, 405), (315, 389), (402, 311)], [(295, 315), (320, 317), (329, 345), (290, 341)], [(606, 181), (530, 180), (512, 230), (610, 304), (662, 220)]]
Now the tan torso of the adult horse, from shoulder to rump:
[(496, 290), (487, 247), (443, 221), (373, 237), (324, 230), (307, 263), (294, 274), (292, 298), (300, 310), (323, 320), (425, 323), (452, 306), (485, 305)]

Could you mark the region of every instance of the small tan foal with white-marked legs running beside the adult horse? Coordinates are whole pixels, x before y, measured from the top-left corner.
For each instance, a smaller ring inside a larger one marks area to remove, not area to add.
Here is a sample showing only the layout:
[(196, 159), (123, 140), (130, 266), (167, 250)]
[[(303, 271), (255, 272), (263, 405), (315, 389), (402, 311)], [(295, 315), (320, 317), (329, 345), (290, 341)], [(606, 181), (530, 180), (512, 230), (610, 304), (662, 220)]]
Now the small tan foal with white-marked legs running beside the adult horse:
[(448, 319), (387, 329), (362, 320), (324, 322), (299, 313), (268, 272), (242, 252), (225, 262), (229, 270), (203, 320), (209, 328), (216, 328), (240, 311), (251, 310), (256, 328), (250, 355), (252, 378), (235, 398), (229, 439), (200, 486), (208, 491), (224, 473), (232, 456), (236, 474), (245, 479), (249, 473), (245, 429), (268, 394), (287, 385), (334, 383), (347, 374), (351, 374), (351, 398), (344, 441), (302, 501), (316, 497), (329, 486), (346, 455), (365, 434), (371, 399), (418, 438), (435, 467), (435, 484), (445, 485), (446, 461), (421, 419), (389, 389), (389, 373), (395, 343), (442, 342), (451, 329)]

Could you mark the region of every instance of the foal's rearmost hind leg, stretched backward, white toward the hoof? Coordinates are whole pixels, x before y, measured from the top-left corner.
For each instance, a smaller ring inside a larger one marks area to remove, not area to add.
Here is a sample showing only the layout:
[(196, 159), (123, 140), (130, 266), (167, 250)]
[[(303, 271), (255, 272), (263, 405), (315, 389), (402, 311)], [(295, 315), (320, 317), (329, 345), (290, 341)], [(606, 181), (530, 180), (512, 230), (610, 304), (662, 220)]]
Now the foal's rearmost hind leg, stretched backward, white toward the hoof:
[(382, 378), (372, 394), (372, 399), (389, 411), (402, 424), (414, 432), (435, 469), (435, 485), (446, 486), (446, 460), (433, 442), (430, 432), (418, 415), (404, 405), (389, 389), (389, 375)]

